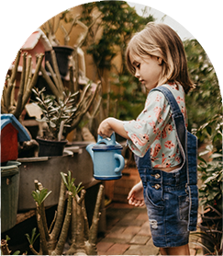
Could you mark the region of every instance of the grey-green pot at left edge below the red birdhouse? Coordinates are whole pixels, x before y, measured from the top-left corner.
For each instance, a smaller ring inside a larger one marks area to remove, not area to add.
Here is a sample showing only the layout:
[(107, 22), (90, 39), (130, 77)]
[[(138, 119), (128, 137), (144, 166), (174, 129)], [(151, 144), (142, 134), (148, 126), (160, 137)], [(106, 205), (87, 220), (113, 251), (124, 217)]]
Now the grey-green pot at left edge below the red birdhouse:
[(17, 161), (0, 166), (0, 233), (14, 227), (17, 222), (19, 166)]

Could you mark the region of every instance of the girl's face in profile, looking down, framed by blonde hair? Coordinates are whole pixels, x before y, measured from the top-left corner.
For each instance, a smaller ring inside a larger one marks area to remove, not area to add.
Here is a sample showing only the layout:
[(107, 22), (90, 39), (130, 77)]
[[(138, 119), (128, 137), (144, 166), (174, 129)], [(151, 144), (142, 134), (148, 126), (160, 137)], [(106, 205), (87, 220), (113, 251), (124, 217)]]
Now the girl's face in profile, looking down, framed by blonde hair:
[(139, 82), (149, 90), (156, 87), (162, 75), (162, 59), (150, 55), (145, 58), (133, 55), (129, 58), (136, 69), (135, 76)]

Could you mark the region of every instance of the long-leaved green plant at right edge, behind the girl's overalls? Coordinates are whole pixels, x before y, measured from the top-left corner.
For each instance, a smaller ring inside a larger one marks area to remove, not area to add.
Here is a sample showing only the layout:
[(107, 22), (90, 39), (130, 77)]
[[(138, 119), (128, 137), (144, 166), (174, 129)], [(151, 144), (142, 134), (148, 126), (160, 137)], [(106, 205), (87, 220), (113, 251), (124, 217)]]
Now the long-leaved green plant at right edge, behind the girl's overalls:
[[(219, 212), (223, 212), (223, 103), (220, 107), (221, 114), (215, 115), (209, 122), (203, 124), (197, 131), (199, 138), (207, 137), (211, 142), (206, 151), (200, 156), (198, 170), (203, 181), (199, 189), (201, 204), (205, 207), (211, 205)], [(209, 154), (206, 161), (203, 155)]]

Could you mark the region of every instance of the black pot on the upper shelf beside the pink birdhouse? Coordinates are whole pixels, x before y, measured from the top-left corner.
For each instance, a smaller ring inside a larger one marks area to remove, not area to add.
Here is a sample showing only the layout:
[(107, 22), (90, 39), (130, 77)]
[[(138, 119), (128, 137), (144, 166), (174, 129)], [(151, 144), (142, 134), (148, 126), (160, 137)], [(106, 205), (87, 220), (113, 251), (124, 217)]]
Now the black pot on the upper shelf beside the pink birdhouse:
[[(73, 48), (70, 46), (53, 46), (52, 49), (55, 52), (61, 76), (66, 76), (69, 69), (69, 56), (72, 55)], [(45, 62), (47, 61), (49, 61), (50, 65), (53, 68), (50, 51), (45, 52)], [(47, 71), (49, 71), (47, 66), (45, 66), (45, 68)]]

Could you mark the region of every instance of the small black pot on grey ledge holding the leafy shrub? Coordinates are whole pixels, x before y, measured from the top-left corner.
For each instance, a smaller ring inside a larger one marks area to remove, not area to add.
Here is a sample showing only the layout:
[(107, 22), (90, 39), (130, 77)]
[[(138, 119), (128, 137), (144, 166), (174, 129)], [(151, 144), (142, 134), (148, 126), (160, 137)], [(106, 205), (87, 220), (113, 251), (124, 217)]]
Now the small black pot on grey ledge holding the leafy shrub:
[(60, 157), (62, 156), (67, 140), (55, 141), (44, 138), (36, 138), (39, 143), (39, 157)]

